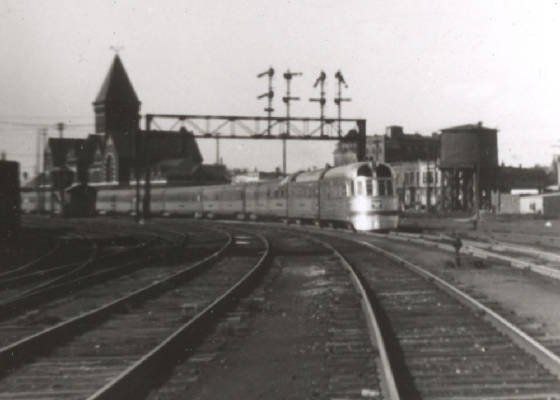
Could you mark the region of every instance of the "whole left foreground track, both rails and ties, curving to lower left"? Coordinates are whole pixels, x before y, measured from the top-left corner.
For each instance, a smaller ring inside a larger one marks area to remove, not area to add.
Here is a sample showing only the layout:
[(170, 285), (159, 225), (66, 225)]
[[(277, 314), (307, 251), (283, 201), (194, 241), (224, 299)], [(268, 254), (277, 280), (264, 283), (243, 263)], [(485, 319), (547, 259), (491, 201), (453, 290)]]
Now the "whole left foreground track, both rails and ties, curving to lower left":
[(189, 350), (185, 340), (194, 345), (237, 301), (267, 255), (264, 238), (237, 235), (171, 276), (5, 346), (0, 399), (135, 398), (131, 390), (152, 386)]

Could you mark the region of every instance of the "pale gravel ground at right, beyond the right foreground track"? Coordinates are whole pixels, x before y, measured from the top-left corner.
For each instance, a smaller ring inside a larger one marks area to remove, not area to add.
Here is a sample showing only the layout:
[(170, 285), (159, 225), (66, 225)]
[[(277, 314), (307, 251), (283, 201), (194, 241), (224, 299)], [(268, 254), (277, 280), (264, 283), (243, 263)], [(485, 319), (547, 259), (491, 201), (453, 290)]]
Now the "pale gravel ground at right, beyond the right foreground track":
[[(404, 230), (436, 231), (447, 235), (459, 233), (462, 237), (483, 242), (500, 240), (530, 245), (560, 254), (560, 220), (520, 216), (495, 216), (482, 214), (476, 230), (465, 218), (435, 218), (425, 215), (405, 217)], [(451, 253), (443, 256), (438, 251), (423, 246), (394, 243), (407, 258), (432, 270), (439, 270), (447, 279), (493, 299), (518, 316), (534, 320), (551, 338), (560, 342), (560, 282), (511, 268), (497, 260), (480, 263), (475, 257), (462, 256), (461, 268), (449, 268), (453, 263)], [(418, 250), (422, 250), (421, 257)], [(445, 254), (445, 253), (443, 253)], [(445, 260), (445, 261), (444, 261)], [(443, 262), (442, 262), (443, 261)], [(560, 263), (556, 265), (560, 268)], [(531, 322), (528, 322), (531, 324)]]

